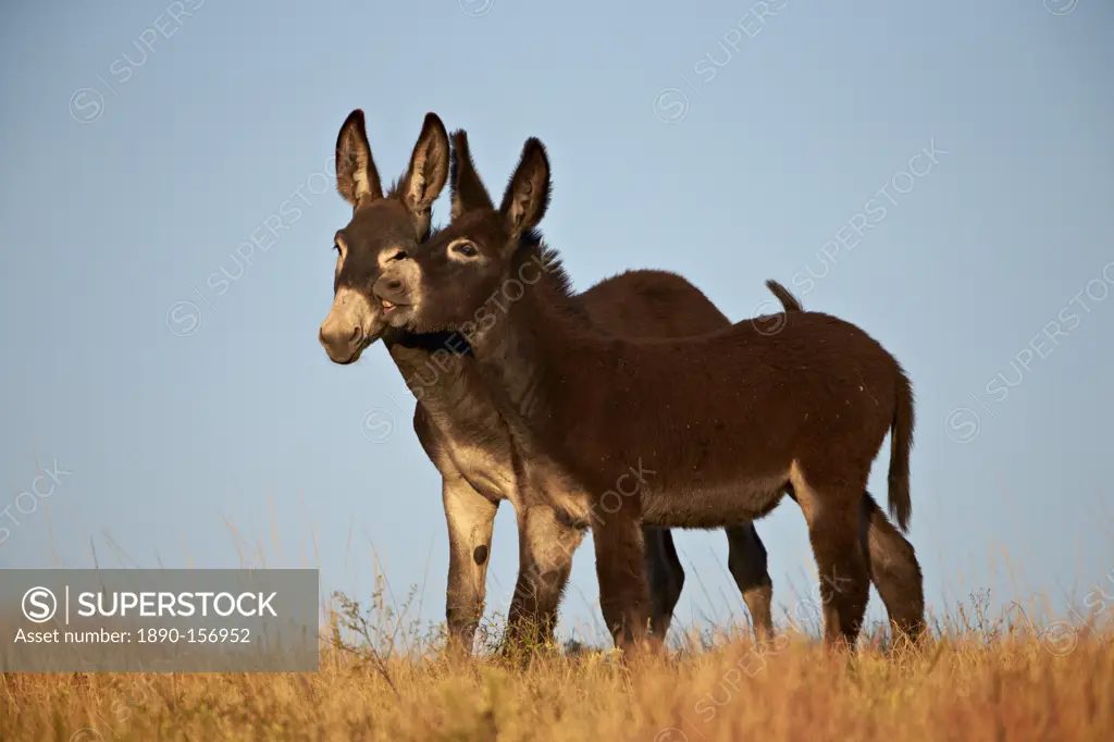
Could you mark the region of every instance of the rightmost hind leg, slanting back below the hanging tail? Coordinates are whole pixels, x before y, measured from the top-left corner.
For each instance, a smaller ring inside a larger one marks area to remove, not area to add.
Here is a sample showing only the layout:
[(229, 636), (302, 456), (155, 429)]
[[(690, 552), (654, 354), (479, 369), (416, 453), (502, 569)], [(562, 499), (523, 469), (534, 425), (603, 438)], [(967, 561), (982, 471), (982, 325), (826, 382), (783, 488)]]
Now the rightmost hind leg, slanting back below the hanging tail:
[(862, 496), (860, 526), (867, 568), (890, 615), (893, 642), (918, 641), (925, 629), (925, 585), (917, 554), (870, 492)]

